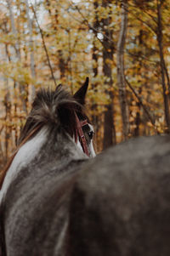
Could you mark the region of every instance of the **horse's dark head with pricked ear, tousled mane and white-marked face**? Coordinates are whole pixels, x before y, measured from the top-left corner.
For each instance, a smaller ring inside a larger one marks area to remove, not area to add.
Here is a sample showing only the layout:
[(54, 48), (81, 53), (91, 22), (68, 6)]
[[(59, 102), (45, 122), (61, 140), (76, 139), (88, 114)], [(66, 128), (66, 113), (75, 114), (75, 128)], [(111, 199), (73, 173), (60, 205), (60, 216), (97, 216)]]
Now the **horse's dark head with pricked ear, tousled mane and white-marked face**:
[[(20, 143), (35, 130), (35, 134), (42, 128), (43, 125), (57, 126), (63, 128), (67, 134), (71, 135), (72, 139), (76, 139), (78, 147), (83, 150), (80, 135), (77, 134), (79, 126), (82, 126), (82, 136), (85, 138), (85, 144), (88, 151), (85, 152), (88, 156), (94, 157), (94, 128), (85, 114), (85, 98), (88, 91), (88, 77), (82, 84), (82, 87), (71, 96), (64, 90), (61, 84), (52, 90), (40, 89), (32, 104), (32, 109), (29, 117), (26, 120), (26, 125), (20, 134)], [(79, 122), (80, 121), (80, 124)], [(85, 122), (86, 121), (86, 122)]]

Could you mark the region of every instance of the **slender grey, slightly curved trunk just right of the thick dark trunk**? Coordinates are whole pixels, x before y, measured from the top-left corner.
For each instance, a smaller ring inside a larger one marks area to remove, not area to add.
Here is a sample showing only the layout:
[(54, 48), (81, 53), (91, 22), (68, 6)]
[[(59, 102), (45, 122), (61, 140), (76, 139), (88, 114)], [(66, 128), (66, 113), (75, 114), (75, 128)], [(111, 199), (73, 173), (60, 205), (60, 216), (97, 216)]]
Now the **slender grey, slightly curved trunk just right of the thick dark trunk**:
[(127, 0), (122, 1), (121, 30), (117, 43), (117, 82), (119, 88), (119, 100), (122, 111), (122, 133), (124, 139), (129, 134), (129, 118), (127, 108), (126, 82), (124, 75), (124, 47), (127, 36)]

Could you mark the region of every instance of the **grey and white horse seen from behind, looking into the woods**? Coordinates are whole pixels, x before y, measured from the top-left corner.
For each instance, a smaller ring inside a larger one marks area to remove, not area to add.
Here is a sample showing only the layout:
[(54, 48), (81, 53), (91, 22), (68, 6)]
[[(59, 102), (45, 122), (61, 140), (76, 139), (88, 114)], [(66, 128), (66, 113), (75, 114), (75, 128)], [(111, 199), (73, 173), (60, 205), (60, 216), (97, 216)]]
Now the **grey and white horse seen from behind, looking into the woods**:
[(3, 255), (169, 256), (170, 137), (129, 139), (89, 158), (77, 142), (78, 118), (89, 152), (86, 89), (77, 102), (63, 90), (54, 100), (37, 94), (3, 181)]

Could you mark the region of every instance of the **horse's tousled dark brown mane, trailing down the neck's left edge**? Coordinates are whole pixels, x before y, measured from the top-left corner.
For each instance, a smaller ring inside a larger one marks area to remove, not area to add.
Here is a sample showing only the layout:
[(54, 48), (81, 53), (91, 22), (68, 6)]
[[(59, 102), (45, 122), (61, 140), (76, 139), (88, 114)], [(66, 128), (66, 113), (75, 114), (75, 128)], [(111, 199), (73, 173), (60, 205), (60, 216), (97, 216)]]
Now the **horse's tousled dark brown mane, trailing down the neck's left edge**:
[(55, 90), (41, 88), (37, 91), (35, 100), (32, 103), (31, 112), (26, 119), (24, 128), (21, 130), (16, 150), (9, 158), (1, 174), (0, 189), (2, 188), (8, 168), (14, 160), (14, 156), (20, 150), (20, 147), (29, 139), (32, 139), (44, 125), (51, 128), (62, 127), (65, 133), (73, 136), (77, 128), (75, 113), (77, 113), (77, 116), (81, 120), (88, 119), (84, 107), (60, 85)]

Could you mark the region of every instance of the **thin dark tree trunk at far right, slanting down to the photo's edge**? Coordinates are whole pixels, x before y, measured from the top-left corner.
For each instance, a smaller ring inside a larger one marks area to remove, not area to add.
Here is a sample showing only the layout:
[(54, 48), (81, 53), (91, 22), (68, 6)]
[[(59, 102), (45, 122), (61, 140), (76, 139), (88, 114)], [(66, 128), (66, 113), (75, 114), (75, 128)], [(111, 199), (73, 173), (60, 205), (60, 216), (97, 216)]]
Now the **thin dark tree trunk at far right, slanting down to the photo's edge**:
[(157, 43), (159, 46), (160, 54), (160, 65), (161, 65), (161, 86), (163, 89), (163, 100), (164, 100), (164, 111), (165, 111), (165, 122), (167, 133), (170, 132), (170, 117), (169, 117), (169, 103), (167, 96), (167, 86), (165, 82), (165, 60), (163, 55), (163, 46), (162, 46), (162, 25), (161, 25), (161, 1), (157, 0)]

